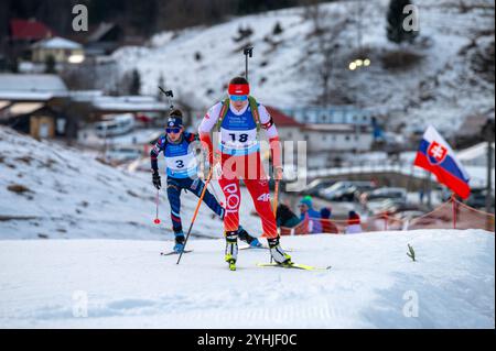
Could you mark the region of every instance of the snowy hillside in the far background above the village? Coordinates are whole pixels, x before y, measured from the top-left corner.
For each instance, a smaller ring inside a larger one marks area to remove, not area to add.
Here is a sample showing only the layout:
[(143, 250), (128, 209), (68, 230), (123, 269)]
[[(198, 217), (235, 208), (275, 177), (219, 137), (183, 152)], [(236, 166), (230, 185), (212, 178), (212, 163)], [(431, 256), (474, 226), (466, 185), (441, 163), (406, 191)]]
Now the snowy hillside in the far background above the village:
[[(355, 103), (389, 117), (389, 127), (405, 122), (408, 129), (423, 130), (433, 123), (442, 131), (455, 131), (465, 118), (494, 111), (493, 83), (477, 74), (477, 57), (490, 52), (494, 59), (494, 2), (478, 0), (418, 0), (421, 37), (407, 50), (420, 62), (408, 69), (386, 69), (384, 59), (398, 46), (386, 37), (389, 0), (336, 1), (323, 6), (325, 24), (349, 21), (339, 29), (339, 46), (333, 51), (333, 103)], [(363, 7), (362, 28), (356, 10)], [(312, 21), (304, 21), (303, 9), (287, 9), (260, 15), (233, 19), (211, 28), (194, 28), (155, 35), (149, 47), (126, 47), (114, 58), (122, 74), (139, 69), (145, 94), (157, 95), (159, 77), (168, 88), (205, 109), (225, 94), (234, 75), (244, 73), (241, 47), (255, 45), (250, 63), (254, 95), (280, 108), (315, 102), (322, 92)], [(280, 23), (283, 32), (272, 31)], [(235, 42), (238, 29), (250, 26), (249, 40)], [(351, 72), (356, 58), (358, 31), (363, 47), (371, 59), (368, 69)], [(196, 54), (201, 59), (196, 59)], [(489, 79), (490, 80), (490, 79)]]

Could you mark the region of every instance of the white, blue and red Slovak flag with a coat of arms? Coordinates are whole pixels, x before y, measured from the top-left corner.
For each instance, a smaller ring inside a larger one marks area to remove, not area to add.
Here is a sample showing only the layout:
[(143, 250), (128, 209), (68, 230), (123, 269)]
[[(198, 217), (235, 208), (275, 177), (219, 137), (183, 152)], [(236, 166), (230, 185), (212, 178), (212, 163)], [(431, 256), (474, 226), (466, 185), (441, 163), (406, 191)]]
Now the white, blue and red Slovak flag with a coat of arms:
[(471, 195), (470, 176), (456, 160), (453, 150), (438, 131), (430, 125), (420, 142), (414, 165), (429, 171), (463, 199)]

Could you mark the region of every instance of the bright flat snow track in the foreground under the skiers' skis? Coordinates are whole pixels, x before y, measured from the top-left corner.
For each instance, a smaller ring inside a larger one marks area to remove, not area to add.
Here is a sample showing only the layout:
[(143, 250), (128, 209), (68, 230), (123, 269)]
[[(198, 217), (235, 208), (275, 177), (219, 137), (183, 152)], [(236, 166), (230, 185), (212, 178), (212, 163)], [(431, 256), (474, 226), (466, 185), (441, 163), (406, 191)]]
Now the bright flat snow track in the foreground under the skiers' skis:
[(0, 328), (495, 327), (493, 233), (283, 241), (295, 261), (333, 268), (260, 268), (267, 252), (241, 251), (229, 272), (220, 240), (192, 242), (181, 265), (152, 241), (0, 241)]

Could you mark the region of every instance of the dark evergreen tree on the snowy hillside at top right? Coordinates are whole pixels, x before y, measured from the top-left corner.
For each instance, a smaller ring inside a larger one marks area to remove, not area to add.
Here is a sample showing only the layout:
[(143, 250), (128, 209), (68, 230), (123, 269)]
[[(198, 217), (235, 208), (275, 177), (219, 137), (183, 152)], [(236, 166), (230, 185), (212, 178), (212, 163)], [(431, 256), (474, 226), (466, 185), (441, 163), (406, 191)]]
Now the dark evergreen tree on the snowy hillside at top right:
[(393, 43), (412, 42), (419, 34), (418, 31), (406, 30), (405, 20), (410, 14), (403, 13), (405, 7), (412, 4), (410, 0), (391, 0), (387, 14), (388, 40)]

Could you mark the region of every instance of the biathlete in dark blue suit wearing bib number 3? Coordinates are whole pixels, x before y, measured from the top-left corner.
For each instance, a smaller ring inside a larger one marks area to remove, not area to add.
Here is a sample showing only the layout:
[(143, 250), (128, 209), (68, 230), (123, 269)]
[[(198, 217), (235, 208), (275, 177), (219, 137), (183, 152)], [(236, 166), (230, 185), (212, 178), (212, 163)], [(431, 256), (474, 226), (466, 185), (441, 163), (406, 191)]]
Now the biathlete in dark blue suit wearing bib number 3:
[[(200, 198), (205, 187), (205, 184), (198, 177), (195, 147), (192, 145), (198, 141), (198, 134), (184, 131), (182, 112), (174, 110), (169, 117), (165, 135), (159, 138), (155, 146), (150, 152), (153, 185), (159, 190), (162, 187), (162, 183), (159, 174), (158, 157), (161, 152), (165, 156), (168, 198), (171, 206), (172, 230), (175, 234), (175, 252), (182, 252), (185, 242), (181, 221), (181, 193), (182, 190), (191, 191)], [(224, 207), (218, 204), (217, 199), (208, 190), (205, 191), (203, 201), (224, 220)], [(239, 227), (238, 235), (250, 246), (261, 246), (258, 239), (248, 234), (242, 227)]]

